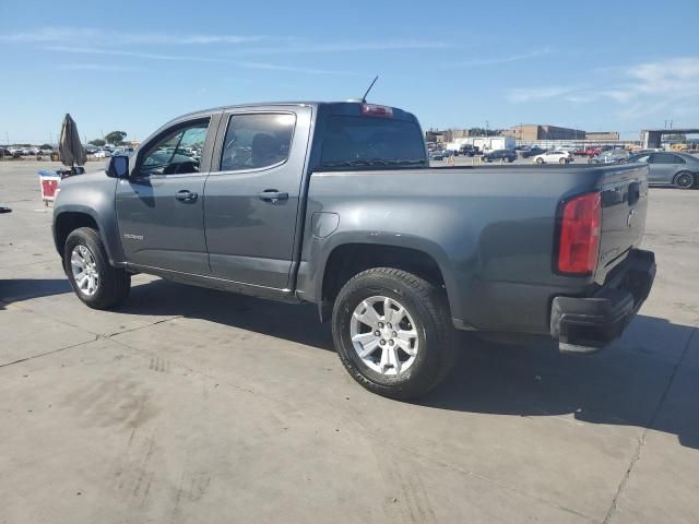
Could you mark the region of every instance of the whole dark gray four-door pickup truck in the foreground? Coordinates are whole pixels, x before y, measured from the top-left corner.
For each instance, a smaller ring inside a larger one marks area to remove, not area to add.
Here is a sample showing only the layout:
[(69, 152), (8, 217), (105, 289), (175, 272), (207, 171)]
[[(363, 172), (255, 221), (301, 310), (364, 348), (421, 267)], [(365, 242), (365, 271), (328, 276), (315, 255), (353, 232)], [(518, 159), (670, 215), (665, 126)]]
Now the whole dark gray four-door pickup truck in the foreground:
[(647, 298), (648, 167), (429, 168), (417, 119), (350, 103), (179, 117), (104, 171), (62, 180), (54, 238), (78, 297), (131, 275), (318, 306), (368, 390), (412, 398), (458, 330), (587, 353)]

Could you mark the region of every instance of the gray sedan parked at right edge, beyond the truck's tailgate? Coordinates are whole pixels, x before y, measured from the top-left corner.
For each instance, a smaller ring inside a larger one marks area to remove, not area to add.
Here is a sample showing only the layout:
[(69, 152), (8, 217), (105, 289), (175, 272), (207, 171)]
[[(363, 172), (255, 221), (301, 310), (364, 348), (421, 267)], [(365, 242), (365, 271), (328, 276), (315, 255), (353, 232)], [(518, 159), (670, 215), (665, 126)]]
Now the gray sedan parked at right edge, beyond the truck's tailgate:
[(641, 153), (627, 163), (648, 164), (649, 186), (675, 186), (690, 189), (699, 183), (699, 157), (688, 153)]

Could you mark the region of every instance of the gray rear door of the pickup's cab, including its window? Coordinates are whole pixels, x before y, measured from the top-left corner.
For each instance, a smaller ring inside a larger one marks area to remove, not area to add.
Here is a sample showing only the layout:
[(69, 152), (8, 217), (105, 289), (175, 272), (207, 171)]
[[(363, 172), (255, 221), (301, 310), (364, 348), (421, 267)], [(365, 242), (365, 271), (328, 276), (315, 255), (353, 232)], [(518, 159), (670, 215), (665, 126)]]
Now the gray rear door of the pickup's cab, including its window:
[(213, 276), (288, 287), (311, 116), (308, 106), (224, 114), (204, 191)]

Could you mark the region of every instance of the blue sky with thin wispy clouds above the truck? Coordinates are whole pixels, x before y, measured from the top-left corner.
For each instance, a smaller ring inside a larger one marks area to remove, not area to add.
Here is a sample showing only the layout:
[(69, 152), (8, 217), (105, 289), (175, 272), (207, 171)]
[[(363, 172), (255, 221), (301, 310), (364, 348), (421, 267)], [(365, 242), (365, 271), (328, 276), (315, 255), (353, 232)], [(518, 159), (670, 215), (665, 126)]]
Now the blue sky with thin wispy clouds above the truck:
[[(57, 9), (60, 3), (61, 8)], [(337, 5), (337, 7), (335, 7)], [(359, 96), (424, 128), (699, 126), (699, 2), (0, 0), (0, 142), (144, 139), (211, 106)]]

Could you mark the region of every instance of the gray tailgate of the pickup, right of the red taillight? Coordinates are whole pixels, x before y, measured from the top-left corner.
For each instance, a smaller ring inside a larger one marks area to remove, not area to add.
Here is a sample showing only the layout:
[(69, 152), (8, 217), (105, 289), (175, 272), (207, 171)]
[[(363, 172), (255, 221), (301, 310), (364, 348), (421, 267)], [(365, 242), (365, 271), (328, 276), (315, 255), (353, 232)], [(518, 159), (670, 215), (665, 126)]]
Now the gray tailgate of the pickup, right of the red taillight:
[(602, 181), (602, 235), (595, 281), (626, 260), (641, 243), (648, 209), (648, 166), (627, 165), (606, 169)]

